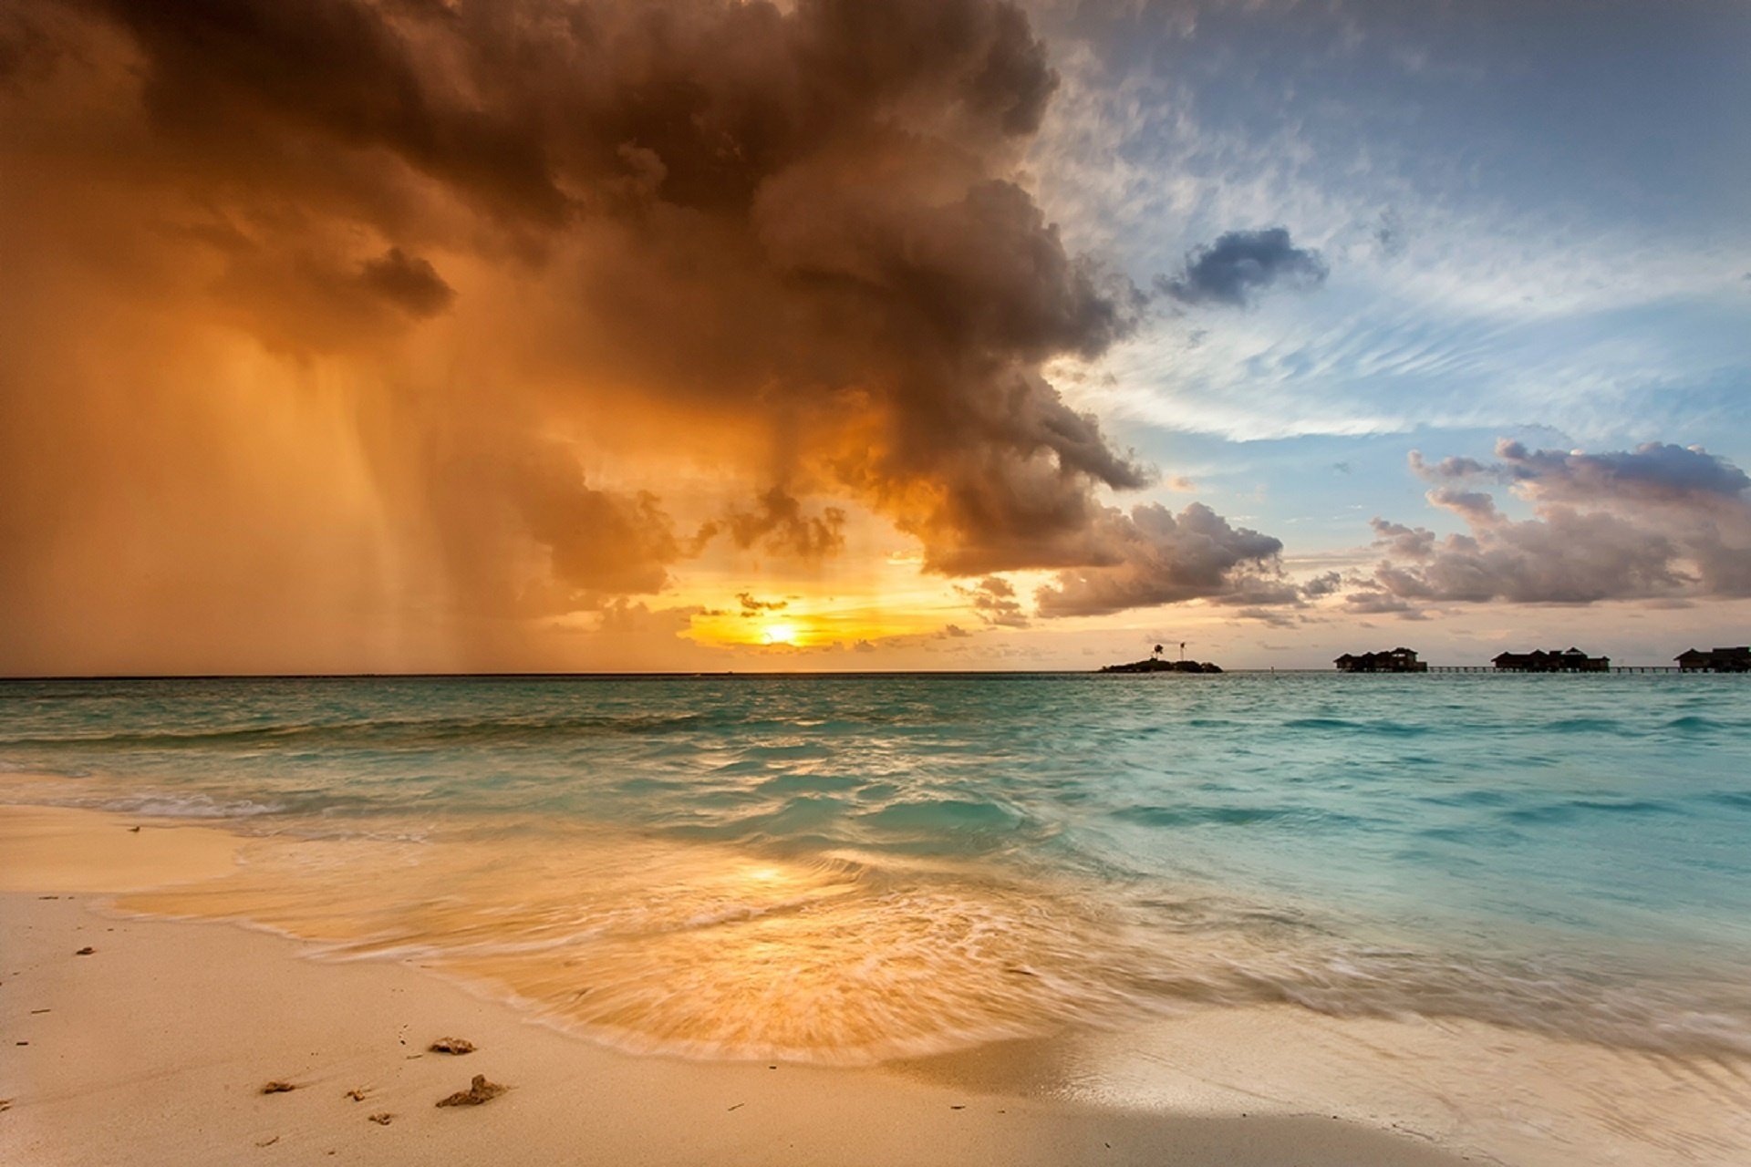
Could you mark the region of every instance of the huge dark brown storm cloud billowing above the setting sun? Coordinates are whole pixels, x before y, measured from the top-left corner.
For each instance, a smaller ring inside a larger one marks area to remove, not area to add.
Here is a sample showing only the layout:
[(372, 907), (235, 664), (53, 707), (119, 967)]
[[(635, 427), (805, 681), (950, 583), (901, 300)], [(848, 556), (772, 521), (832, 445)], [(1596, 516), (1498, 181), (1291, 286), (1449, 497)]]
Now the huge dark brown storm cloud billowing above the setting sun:
[[(1103, 352), (1140, 297), (1007, 177), (1058, 84), (1010, 3), (93, 2), (144, 56), (158, 133), (224, 182), (438, 229), (357, 189), (378, 164), (515, 248), (574, 243), (578, 324), (552, 345), (580, 374), (756, 420), (860, 413), (870, 441), (826, 478), (939, 570), (1056, 565), (1093, 488), (1143, 483), (1037, 373)], [(413, 264), (371, 280), (422, 311), (441, 292)]]

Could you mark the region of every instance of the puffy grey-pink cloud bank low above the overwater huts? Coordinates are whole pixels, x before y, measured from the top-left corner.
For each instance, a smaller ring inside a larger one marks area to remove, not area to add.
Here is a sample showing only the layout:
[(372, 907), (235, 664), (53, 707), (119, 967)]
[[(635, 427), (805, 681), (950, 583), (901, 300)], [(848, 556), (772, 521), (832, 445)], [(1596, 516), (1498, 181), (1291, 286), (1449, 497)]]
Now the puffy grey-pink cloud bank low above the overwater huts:
[(1502, 514), (1480, 490), (1432, 488), (1429, 502), (1457, 514), (1466, 534), (1376, 518), (1385, 558), (1347, 597), (1354, 611), (1751, 595), (1751, 478), (1732, 462), (1697, 446), (1579, 453), (1506, 439), (1495, 457), (1429, 464), (1413, 453), (1411, 469), (1438, 483), (1508, 483), (1534, 518)]

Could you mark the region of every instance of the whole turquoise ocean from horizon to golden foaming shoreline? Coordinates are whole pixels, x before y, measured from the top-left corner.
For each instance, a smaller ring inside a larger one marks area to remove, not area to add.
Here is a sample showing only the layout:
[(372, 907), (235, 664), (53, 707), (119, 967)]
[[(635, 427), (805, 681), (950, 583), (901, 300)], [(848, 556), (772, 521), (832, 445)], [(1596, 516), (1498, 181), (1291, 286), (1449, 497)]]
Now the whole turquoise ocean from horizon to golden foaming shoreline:
[(124, 908), (636, 1052), (1269, 1006), (1751, 1059), (1740, 677), (12, 681), (0, 766), (11, 801), (250, 838)]

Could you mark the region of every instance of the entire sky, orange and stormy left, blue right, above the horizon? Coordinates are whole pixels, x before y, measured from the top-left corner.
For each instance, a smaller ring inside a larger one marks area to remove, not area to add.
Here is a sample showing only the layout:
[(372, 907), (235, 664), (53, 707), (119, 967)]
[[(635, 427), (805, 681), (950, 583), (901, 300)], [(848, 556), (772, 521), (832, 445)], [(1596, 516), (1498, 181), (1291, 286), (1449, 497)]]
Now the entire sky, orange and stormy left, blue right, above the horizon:
[(0, 0), (0, 674), (1744, 644), (1746, 59), (1739, 0)]

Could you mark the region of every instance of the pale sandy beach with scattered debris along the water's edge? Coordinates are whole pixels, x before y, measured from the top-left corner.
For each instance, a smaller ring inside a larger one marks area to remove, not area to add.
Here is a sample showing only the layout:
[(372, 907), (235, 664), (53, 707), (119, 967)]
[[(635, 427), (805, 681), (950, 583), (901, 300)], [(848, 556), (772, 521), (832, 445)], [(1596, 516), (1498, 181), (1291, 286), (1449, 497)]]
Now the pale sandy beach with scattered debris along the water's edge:
[[(107, 908), (116, 892), (208, 877), (236, 843), (96, 812), (0, 812), (0, 1162), (1462, 1162), (1268, 1104), (1173, 1113), (954, 1085), (953, 1066), (632, 1057), (408, 964), (317, 962), (282, 936)], [(447, 1036), (476, 1050), (427, 1050)], [(436, 1106), (475, 1074), (508, 1090)], [(270, 1081), (294, 1088), (263, 1094)]]

